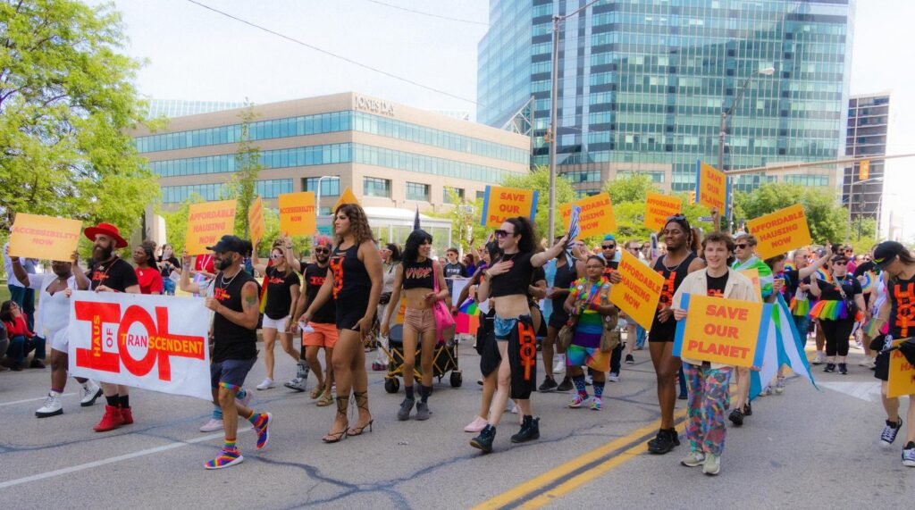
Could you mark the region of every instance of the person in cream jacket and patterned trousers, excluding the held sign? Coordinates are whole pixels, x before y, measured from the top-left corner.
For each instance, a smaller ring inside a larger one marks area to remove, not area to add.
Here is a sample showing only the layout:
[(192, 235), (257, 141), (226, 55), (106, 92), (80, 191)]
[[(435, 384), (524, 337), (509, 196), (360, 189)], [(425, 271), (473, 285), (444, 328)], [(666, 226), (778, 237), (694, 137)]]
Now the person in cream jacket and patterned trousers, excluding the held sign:
[[(759, 302), (753, 283), (746, 276), (728, 269), (727, 260), (734, 252), (734, 241), (727, 234), (712, 232), (702, 243), (705, 270), (695, 271), (673, 294), (673, 317), (686, 318), (682, 306), (684, 294), (707, 295), (739, 301)], [(688, 395), (686, 439), (689, 454), (681, 461), (684, 466), (703, 466), (703, 473), (721, 472), (721, 454), (725, 450), (725, 409), (730, 400), (729, 386), (734, 367), (710, 363), (701, 359), (683, 358)]]

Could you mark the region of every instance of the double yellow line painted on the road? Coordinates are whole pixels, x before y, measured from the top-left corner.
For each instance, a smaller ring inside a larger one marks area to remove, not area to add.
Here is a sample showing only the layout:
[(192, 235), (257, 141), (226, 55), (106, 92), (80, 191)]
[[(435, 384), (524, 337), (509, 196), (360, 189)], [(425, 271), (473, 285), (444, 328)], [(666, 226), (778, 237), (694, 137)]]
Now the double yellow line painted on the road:
[[(685, 415), (686, 415), (686, 412), (681, 410), (681, 411), (678, 411), (677, 413), (675, 413), (673, 418), (674, 418), (674, 420), (680, 420)], [(620, 448), (630, 444), (632, 441), (637, 441), (640, 438), (643, 438), (646, 435), (651, 434), (652, 432), (658, 430), (660, 427), (661, 427), (661, 420), (655, 420), (655, 421), (651, 422), (650, 425), (646, 425), (644, 427), (641, 427), (640, 429), (633, 430), (629, 434), (627, 434), (619, 439), (616, 439), (614, 441), (610, 441), (607, 444), (605, 444), (604, 446), (597, 448), (596, 450), (592, 450), (591, 452), (587, 452), (584, 455), (578, 456), (569, 462), (565, 462), (565, 464), (556, 466), (546, 473), (540, 474), (540, 475), (532, 478), (531, 480), (528, 480), (527, 482), (521, 483), (520, 485), (517, 485), (517, 486), (509, 489), (508, 491), (493, 497), (490, 500), (484, 501), (483, 503), (475, 506), (474, 510), (488, 510), (488, 509), (501, 508), (502, 506), (509, 505), (512, 502), (519, 500), (524, 496), (533, 494), (537, 490), (543, 488), (544, 485), (549, 485), (550, 483), (555, 483), (555, 482), (559, 481), (564, 476), (567, 476), (570, 473), (574, 473), (576, 470), (581, 469), (582, 467), (586, 466), (589, 463), (597, 462), (598, 460), (600, 460), (601, 457), (605, 457), (608, 454), (615, 452), (615, 451), (619, 450)], [(642, 445), (640, 444), (639, 447), (641, 447), (641, 446)], [(614, 458), (616, 458), (616, 457), (614, 457)], [(603, 464), (598, 464), (598, 466), (599, 465), (603, 465)], [(589, 473), (589, 472), (586, 472), (586, 473)], [(576, 478), (578, 476), (582, 476), (583, 474), (585, 474), (585, 473), (581, 473), (581, 474), (577, 475)]]

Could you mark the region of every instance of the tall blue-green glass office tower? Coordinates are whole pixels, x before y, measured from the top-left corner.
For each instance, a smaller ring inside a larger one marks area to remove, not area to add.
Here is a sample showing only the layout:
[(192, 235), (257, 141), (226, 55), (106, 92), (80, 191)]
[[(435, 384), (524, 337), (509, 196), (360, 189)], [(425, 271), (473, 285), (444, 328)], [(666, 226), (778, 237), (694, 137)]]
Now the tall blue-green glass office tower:
[[(533, 163), (548, 164), (553, 16), (588, 0), (490, 0), (479, 42), (480, 122), (501, 127), (534, 100)], [(854, 0), (600, 0), (565, 21), (559, 43), (559, 171), (581, 194), (650, 175), (692, 189), (695, 162), (724, 167), (837, 159), (845, 153)], [(774, 69), (767, 76), (760, 71)], [(834, 167), (742, 175), (836, 186)]]

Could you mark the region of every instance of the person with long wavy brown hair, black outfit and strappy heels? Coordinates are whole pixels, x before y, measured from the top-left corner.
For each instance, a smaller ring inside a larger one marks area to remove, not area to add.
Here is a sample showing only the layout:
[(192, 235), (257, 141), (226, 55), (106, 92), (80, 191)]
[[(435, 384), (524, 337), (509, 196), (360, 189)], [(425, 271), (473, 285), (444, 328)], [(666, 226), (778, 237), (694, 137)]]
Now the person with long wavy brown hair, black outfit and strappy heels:
[[(330, 272), (314, 301), (302, 315), (307, 322), (328, 299), (336, 302), (339, 338), (334, 347), (334, 379), (337, 381), (337, 416), (323, 441), (338, 442), (371, 431), (369, 376), (365, 372), (362, 342), (371, 333), (378, 300), (382, 295), (382, 256), (371, 235), (369, 220), (359, 204), (343, 204), (334, 213), (337, 247), (330, 257)], [(359, 419), (350, 428), (347, 409), (350, 389), (359, 409)]]

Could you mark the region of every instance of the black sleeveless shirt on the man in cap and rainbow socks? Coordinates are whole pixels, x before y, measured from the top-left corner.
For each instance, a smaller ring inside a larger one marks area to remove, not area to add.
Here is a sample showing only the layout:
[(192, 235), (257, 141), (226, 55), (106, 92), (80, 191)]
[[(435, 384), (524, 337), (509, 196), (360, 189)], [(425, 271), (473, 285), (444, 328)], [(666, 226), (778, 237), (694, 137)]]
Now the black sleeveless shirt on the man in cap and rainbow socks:
[[(242, 308), (242, 287), (247, 282), (254, 282), (247, 271), (239, 271), (235, 276), (223, 278), (222, 271), (213, 282), (213, 297), (233, 312), (244, 312)], [(216, 313), (213, 316), (213, 363), (227, 359), (252, 359), (257, 357), (257, 326), (253, 329), (242, 327)]]

